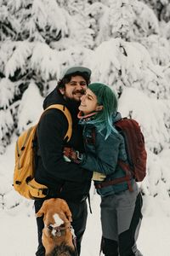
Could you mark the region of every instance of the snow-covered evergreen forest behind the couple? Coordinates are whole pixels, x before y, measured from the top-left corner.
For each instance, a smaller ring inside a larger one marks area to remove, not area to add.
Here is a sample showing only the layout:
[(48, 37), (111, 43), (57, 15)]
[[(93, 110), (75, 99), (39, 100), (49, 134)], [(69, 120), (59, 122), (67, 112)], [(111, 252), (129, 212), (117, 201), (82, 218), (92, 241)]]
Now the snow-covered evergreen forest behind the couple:
[(80, 65), (116, 91), (122, 116), (139, 121), (144, 211), (158, 204), (170, 216), (169, 20), (168, 0), (0, 0), (0, 212), (29, 215), (32, 201), (12, 186), (14, 143), (65, 67)]

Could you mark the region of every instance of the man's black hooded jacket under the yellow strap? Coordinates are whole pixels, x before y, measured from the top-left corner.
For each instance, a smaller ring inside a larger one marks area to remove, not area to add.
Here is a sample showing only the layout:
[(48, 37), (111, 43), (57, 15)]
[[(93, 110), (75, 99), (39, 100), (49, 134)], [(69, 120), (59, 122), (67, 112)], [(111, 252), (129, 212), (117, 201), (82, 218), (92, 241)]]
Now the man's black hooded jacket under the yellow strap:
[(72, 136), (69, 143), (64, 140), (68, 128), (64, 113), (58, 109), (49, 109), (43, 114), (38, 125), (37, 167), (35, 178), (38, 183), (45, 184), (53, 189), (59, 197), (65, 200), (79, 199), (88, 195), (92, 172), (84, 170), (81, 166), (66, 162), (63, 158), (65, 145), (83, 152), (82, 127), (78, 125), (77, 102), (65, 100), (56, 89), (45, 99), (43, 108), (52, 104), (63, 104), (71, 112)]

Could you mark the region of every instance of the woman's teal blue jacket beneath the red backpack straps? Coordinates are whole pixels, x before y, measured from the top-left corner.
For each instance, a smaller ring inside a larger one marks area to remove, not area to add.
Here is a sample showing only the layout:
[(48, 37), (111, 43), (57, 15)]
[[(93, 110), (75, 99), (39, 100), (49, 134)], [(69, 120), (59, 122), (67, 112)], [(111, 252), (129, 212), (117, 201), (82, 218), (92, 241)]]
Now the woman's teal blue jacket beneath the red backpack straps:
[[(120, 113), (116, 114), (114, 122), (118, 119), (121, 119)], [(117, 160), (127, 162), (127, 153), (122, 135), (118, 131), (111, 131), (111, 135), (105, 139), (106, 131), (96, 131), (96, 127), (89, 124), (89, 119), (81, 119), (79, 123), (83, 126), (83, 140), (86, 152), (83, 154), (81, 166), (91, 172), (104, 173), (106, 175), (105, 181), (113, 180), (117, 177), (125, 177), (126, 173), (117, 165)], [(106, 196), (127, 189), (127, 182), (123, 182), (97, 189), (97, 192), (99, 195)]]

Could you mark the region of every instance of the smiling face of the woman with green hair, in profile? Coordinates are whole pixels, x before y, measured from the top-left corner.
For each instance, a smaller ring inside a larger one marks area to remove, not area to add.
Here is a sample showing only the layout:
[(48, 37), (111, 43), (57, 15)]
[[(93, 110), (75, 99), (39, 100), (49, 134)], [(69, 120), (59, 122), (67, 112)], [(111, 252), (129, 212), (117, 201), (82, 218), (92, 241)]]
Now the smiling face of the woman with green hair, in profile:
[(103, 106), (98, 105), (97, 96), (92, 90), (87, 89), (85, 95), (81, 97), (81, 104), (79, 110), (85, 115), (95, 111), (99, 111)]

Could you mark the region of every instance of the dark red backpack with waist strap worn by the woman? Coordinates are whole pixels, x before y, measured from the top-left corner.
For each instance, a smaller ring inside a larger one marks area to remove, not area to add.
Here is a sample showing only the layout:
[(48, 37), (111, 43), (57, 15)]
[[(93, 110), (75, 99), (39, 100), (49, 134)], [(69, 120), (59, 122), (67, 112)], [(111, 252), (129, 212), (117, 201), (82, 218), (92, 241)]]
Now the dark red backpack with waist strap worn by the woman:
[(139, 123), (134, 119), (123, 118), (114, 123), (125, 140), (128, 164), (118, 160), (117, 165), (126, 172), (125, 177), (116, 178), (95, 185), (96, 189), (101, 189), (111, 184), (127, 181), (129, 190), (132, 190), (130, 180), (133, 177), (137, 182), (143, 181), (146, 175), (147, 153), (144, 147), (144, 136), (140, 130)]

